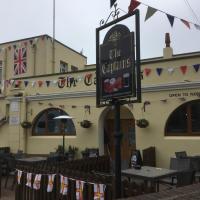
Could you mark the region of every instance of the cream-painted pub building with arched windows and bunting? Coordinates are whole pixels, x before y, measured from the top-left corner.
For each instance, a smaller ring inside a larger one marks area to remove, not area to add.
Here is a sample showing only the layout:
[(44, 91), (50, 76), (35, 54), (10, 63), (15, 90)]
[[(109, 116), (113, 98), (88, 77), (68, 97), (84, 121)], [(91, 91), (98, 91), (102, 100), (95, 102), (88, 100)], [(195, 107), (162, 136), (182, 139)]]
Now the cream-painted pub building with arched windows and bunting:
[[(86, 56), (57, 40), (52, 47), (48, 35), (0, 44), (0, 146), (49, 154), (62, 145), (64, 131), (66, 148), (78, 147), (78, 157), (85, 148), (98, 148), (114, 159), (114, 110), (96, 107), (95, 64), (87, 65)], [(119, 55), (110, 52), (110, 58)], [(120, 62), (102, 65), (102, 72), (130, 61)], [(163, 56), (141, 60), (142, 102), (120, 110), (122, 168), (135, 149), (151, 146), (158, 167), (168, 168), (177, 151), (200, 154), (199, 67), (200, 52), (174, 55), (169, 34)], [(105, 91), (128, 86), (128, 76), (105, 79)], [(64, 129), (54, 120), (59, 115), (73, 117)]]

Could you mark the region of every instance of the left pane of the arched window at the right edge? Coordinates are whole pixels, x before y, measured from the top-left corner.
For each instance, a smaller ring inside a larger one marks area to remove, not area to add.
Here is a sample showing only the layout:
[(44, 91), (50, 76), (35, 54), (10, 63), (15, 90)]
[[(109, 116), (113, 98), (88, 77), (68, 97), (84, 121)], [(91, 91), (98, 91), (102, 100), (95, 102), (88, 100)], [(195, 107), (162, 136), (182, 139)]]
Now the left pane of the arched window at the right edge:
[(167, 123), (168, 133), (186, 133), (187, 132), (187, 112), (186, 105), (181, 106), (172, 113)]

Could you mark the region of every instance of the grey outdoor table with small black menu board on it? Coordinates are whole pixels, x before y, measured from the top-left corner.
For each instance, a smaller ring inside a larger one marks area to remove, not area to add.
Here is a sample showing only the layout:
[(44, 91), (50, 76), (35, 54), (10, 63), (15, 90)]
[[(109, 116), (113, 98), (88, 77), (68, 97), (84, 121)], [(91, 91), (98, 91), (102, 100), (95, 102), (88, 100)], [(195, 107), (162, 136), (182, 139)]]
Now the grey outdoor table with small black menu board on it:
[[(141, 169), (129, 168), (122, 170), (122, 176), (128, 178), (138, 178), (144, 180), (145, 186), (147, 187), (150, 183), (156, 191), (159, 191), (159, 180), (165, 177), (171, 177), (178, 174), (177, 170), (142, 166)], [(156, 186), (156, 187), (155, 187)]]

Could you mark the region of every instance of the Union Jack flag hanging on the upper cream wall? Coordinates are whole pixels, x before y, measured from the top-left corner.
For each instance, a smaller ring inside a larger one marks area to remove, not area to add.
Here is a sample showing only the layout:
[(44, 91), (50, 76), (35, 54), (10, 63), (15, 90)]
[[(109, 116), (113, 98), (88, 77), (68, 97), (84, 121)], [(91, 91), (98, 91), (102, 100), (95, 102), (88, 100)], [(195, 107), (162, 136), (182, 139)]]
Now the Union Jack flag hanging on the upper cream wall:
[(14, 75), (26, 73), (26, 48), (17, 48), (14, 51)]

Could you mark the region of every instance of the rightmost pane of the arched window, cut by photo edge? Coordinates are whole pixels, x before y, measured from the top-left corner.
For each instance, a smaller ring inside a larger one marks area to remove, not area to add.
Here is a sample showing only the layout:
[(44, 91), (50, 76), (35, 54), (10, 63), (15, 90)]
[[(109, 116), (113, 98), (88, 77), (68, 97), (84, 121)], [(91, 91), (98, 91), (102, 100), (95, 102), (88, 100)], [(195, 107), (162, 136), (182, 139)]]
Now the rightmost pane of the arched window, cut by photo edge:
[(192, 132), (200, 132), (200, 102), (191, 105)]

